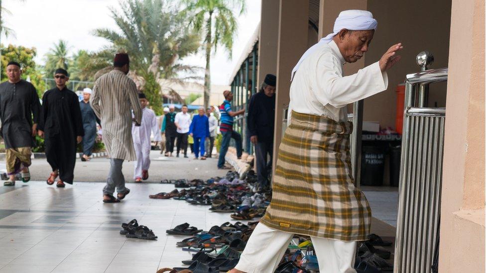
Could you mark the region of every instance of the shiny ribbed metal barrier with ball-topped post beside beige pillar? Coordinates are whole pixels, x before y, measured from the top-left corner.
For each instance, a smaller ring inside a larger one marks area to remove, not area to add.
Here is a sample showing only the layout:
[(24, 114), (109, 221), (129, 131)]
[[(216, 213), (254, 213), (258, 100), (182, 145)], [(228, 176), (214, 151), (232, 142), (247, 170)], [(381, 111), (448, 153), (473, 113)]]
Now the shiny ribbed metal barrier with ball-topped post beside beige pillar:
[(395, 240), (395, 273), (430, 273), (438, 240), (445, 108), (427, 108), (428, 86), (447, 81), (447, 68), (407, 75)]

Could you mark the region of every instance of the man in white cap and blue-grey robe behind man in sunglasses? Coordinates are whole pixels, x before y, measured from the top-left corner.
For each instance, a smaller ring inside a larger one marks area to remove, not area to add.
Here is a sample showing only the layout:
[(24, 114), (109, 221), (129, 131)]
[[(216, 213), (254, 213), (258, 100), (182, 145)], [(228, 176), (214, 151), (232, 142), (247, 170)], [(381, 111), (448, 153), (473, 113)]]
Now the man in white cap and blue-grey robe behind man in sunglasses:
[(81, 161), (89, 161), (91, 150), (96, 140), (96, 123), (101, 124), (100, 119), (96, 116), (95, 111), (90, 105), (90, 96), (93, 91), (89, 88), (83, 89), (83, 100), (79, 102), (81, 116), (83, 118), (84, 138), (83, 138), (83, 156)]

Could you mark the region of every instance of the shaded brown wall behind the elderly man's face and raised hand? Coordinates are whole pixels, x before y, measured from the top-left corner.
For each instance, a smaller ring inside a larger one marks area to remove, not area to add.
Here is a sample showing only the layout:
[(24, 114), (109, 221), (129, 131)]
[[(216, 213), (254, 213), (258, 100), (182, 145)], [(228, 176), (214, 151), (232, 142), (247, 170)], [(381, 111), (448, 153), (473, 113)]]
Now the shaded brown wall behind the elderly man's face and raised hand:
[[(364, 120), (379, 121), (381, 127), (395, 128), (396, 86), (405, 76), (420, 71), (415, 62), (423, 50), (433, 53), (430, 68), (447, 67), (449, 59), (450, 0), (368, 0), (367, 10), (378, 21), (378, 29), (365, 54), (365, 65), (378, 61), (386, 50), (402, 42), (402, 59), (388, 71), (388, 90), (365, 99)], [(431, 85), (429, 105), (445, 107), (446, 84)]]

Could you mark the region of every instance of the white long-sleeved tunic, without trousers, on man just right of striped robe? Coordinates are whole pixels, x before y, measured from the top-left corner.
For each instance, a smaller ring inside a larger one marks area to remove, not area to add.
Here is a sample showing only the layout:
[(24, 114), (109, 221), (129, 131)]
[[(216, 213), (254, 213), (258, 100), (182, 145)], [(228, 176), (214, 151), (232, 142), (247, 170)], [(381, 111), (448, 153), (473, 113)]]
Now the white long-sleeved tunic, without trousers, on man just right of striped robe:
[(150, 146), (150, 134), (153, 134), (153, 141), (162, 140), (155, 113), (151, 109), (143, 108), (140, 126), (132, 125), (131, 127), (133, 143), (146, 144)]

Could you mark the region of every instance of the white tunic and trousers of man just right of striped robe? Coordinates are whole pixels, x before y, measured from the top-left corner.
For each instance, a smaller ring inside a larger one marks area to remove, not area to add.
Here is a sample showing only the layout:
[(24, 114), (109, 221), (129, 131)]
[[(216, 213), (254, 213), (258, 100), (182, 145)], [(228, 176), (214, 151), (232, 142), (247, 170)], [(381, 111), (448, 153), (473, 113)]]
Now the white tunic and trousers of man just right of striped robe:
[(134, 164), (133, 179), (142, 178), (142, 171), (150, 167), (150, 135), (154, 141), (161, 141), (159, 126), (155, 113), (148, 108), (142, 109), (140, 126), (132, 125), (131, 135), (135, 147), (136, 161)]

